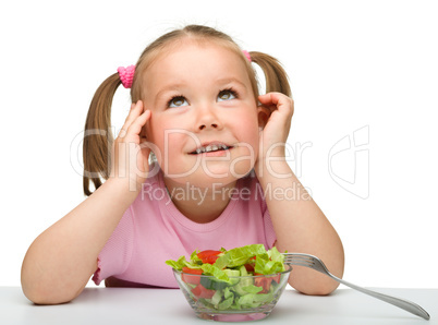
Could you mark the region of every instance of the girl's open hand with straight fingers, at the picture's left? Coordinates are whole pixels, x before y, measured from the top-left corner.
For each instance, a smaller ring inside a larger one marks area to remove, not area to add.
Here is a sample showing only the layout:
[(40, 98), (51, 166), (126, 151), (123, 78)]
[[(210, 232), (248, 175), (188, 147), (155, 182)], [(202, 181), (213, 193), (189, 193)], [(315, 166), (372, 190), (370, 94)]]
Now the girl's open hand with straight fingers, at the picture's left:
[(149, 171), (150, 148), (144, 127), (150, 119), (142, 100), (131, 105), (130, 113), (112, 145), (110, 178), (126, 180), (130, 190), (138, 191)]

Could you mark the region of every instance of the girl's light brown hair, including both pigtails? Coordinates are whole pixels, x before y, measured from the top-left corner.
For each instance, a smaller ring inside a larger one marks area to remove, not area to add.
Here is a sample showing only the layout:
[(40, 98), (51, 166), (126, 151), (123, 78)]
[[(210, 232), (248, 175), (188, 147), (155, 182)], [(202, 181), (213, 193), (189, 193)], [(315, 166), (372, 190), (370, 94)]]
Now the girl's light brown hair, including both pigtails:
[[(135, 64), (135, 74), (131, 88), (131, 98), (133, 103), (143, 99), (142, 81), (145, 71), (154, 60), (168, 49), (170, 46), (183, 45), (184, 40), (192, 39), (202, 43), (216, 43), (234, 51), (246, 64), (247, 73), (251, 80), (255, 98), (258, 96), (258, 83), (254, 68), (247, 60), (242, 49), (227, 34), (215, 28), (202, 25), (187, 25), (182, 29), (175, 29), (162, 35), (153, 41), (143, 51)], [(252, 62), (258, 64), (265, 74), (266, 93), (279, 92), (291, 96), (291, 89), (288, 75), (280, 62), (273, 57), (257, 52), (250, 52)], [(108, 179), (111, 170), (111, 146), (113, 136), (110, 131), (111, 125), (111, 105), (114, 93), (121, 81), (119, 74), (114, 73), (96, 91), (85, 122), (85, 136), (83, 146), (84, 156), (84, 177), (83, 186), (85, 195), (90, 195), (90, 181), (97, 190), (101, 184), (101, 179)]]

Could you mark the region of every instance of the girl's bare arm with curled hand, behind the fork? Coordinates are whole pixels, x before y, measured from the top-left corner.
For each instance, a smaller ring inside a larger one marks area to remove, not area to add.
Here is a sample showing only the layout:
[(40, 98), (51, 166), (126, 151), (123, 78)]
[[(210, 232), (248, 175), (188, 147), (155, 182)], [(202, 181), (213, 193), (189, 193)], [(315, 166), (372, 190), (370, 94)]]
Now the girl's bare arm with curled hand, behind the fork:
[[(316, 255), (333, 275), (341, 278), (344, 267), (341, 240), (284, 158), (293, 101), (279, 93), (266, 94), (259, 100), (271, 113), (260, 134), (255, 170), (265, 191), (277, 234), (276, 245), (281, 252)], [(328, 294), (339, 284), (311, 268), (293, 266), (290, 285), (306, 294)]]

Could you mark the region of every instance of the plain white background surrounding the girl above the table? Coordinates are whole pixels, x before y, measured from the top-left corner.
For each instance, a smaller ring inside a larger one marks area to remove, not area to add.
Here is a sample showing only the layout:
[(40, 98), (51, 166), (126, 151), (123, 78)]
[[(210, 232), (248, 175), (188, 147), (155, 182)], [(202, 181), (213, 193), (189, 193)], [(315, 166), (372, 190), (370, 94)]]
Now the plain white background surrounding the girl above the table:
[[(434, 1), (1, 2), (0, 286), (20, 285), (32, 241), (84, 200), (80, 133), (98, 85), (200, 23), (284, 64), (290, 162), (343, 240), (344, 278), (438, 288), (437, 14)], [(129, 100), (121, 87), (115, 129)]]

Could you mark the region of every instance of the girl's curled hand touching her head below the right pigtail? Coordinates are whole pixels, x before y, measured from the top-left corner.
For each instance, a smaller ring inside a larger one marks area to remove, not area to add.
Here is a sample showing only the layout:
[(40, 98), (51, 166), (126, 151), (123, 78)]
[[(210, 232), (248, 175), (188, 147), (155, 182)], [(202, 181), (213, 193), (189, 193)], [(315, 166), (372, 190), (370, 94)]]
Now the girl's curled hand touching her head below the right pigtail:
[(259, 107), (259, 117), (266, 122), (265, 128), (260, 131), (256, 170), (257, 165), (269, 157), (284, 157), (284, 144), (288, 140), (293, 116), (292, 98), (281, 93), (268, 93), (259, 96), (258, 100), (263, 105)]

